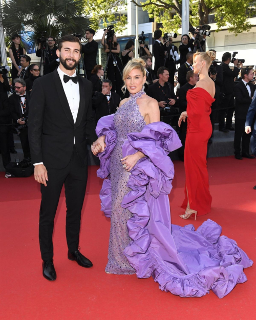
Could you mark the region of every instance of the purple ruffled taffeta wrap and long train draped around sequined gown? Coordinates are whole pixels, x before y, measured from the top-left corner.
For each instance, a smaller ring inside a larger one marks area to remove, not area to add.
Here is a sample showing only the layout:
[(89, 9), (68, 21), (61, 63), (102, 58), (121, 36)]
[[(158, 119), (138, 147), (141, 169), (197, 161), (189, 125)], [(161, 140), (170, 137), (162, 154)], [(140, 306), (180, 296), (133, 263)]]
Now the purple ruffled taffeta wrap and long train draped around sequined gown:
[[(106, 149), (99, 155), (98, 176), (109, 176), (110, 158), (116, 143), (113, 116), (101, 118), (98, 135), (106, 135)], [(168, 194), (172, 189), (174, 166), (167, 154), (181, 146), (169, 125), (155, 122), (140, 133), (127, 134), (123, 157), (141, 151), (147, 157), (131, 170), (127, 186), (131, 191), (122, 207), (134, 215), (127, 221), (131, 243), (124, 249), (138, 278), (153, 276), (161, 290), (182, 297), (199, 297), (211, 289), (220, 298), (238, 283), (245, 282), (243, 269), (252, 265), (236, 242), (220, 236), (221, 227), (205, 221), (196, 231), (193, 225), (180, 227), (170, 222)], [(103, 181), (101, 208), (111, 215), (111, 183)]]

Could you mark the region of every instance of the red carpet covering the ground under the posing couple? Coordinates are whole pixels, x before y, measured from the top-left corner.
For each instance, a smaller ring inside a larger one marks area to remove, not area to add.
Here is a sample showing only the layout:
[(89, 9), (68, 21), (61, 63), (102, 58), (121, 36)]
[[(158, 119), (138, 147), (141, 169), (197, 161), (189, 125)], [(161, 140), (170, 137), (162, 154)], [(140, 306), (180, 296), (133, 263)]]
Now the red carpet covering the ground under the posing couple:
[[(212, 211), (196, 222), (179, 218), (183, 214), (179, 207), (184, 196), (183, 165), (175, 162), (172, 222), (182, 226), (193, 223), (197, 228), (212, 219), (255, 262), (256, 159), (208, 159)], [(211, 291), (201, 298), (180, 298), (159, 290), (152, 278), (105, 274), (110, 221), (100, 211), (102, 181), (96, 178), (96, 169), (89, 168), (80, 236), (81, 252), (94, 266), (81, 268), (67, 259), (62, 194), (53, 239), (55, 282), (48, 282), (41, 274), (39, 185), (33, 177), (6, 179), (0, 173), (1, 319), (256, 319), (254, 266), (245, 269), (248, 281), (221, 300)]]

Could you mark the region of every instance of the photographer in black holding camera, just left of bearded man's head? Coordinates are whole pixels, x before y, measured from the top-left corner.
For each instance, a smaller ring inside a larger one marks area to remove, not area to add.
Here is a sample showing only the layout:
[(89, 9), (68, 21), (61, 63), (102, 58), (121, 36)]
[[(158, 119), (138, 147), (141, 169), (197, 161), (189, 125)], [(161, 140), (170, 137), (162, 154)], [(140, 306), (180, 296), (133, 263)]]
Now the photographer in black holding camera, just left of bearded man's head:
[[(42, 42), (42, 41), (43, 42)], [(47, 42), (44, 43), (44, 38), (38, 38), (38, 48), (36, 50), (36, 56), (41, 57), (42, 54), (45, 54), (44, 57), (44, 74), (48, 74), (53, 72), (56, 69), (57, 63), (56, 59), (58, 59), (56, 51), (56, 39), (54, 37), (49, 36)], [(44, 50), (45, 53), (44, 53)]]

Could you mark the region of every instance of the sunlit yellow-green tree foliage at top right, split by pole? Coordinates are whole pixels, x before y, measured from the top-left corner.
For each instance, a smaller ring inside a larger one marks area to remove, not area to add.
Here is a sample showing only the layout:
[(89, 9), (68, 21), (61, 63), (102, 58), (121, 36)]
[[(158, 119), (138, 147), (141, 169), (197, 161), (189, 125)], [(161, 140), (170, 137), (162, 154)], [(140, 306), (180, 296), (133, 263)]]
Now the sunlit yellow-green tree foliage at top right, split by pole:
[[(136, 4), (135, 0), (131, 0)], [(178, 31), (181, 27), (181, 0), (147, 0), (137, 4), (147, 11), (157, 23), (163, 24), (164, 32)], [(209, 14), (215, 14), (218, 30), (228, 25), (228, 30), (235, 34), (249, 31), (251, 25), (247, 18), (255, 14), (250, 0), (190, 0), (190, 27), (208, 24)]]

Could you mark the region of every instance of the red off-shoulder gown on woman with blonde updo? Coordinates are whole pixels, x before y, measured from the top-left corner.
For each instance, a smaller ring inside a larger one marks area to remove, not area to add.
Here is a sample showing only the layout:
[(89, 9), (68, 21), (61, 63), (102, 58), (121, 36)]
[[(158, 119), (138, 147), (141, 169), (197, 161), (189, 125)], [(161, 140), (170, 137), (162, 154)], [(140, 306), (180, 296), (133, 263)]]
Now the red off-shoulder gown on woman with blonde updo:
[(185, 142), (184, 165), (186, 174), (185, 200), (182, 208), (197, 211), (198, 216), (210, 212), (211, 195), (207, 171), (207, 143), (212, 133), (210, 122), (211, 104), (215, 99), (203, 88), (187, 92), (187, 135)]

